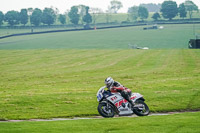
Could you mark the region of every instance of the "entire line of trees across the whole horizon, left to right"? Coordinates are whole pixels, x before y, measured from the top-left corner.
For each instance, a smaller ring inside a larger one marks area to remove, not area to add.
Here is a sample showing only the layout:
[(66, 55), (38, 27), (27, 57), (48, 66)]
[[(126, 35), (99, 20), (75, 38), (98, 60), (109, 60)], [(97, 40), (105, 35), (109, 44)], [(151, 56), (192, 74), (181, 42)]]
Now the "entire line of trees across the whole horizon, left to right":
[[(141, 4), (140, 6), (132, 6), (128, 9), (128, 21), (137, 21), (138, 19), (144, 21), (149, 17), (148, 5)], [(151, 5), (152, 6), (152, 5)], [(155, 6), (155, 5), (153, 5)], [(110, 2), (110, 6), (106, 11), (106, 20), (109, 22), (111, 13), (117, 13), (123, 5), (120, 1), (113, 0)], [(186, 0), (179, 6), (175, 1), (164, 1), (161, 4), (160, 12), (155, 12), (152, 16), (154, 20), (161, 18), (161, 15), (165, 19), (172, 20), (179, 15), (181, 18), (187, 17), (189, 14), (190, 19), (194, 11), (198, 11), (198, 6), (190, 0)], [(96, 24), (98, 14), (102, 11), (99, 8), (90, 8), (85, 5), (72, 6), (71, 9), (65, 14), (58, 14), (58, 9), (45, 8), (41, 10), (39, 8), (21, 9), (18, 11), (8, 11), (6, 14), (0, 11), (0, 26), (7, 22), (10, 26), (22, 24), (26, 25), (29, 21), (34, 26), (39, 26), (41, 23), (46, 25), (52, 25), (58, 20), (61, 24), (66, 24), (67, 17), (70, 22), (77, 25), (79, 22), (89, 25), (90, 23)]]

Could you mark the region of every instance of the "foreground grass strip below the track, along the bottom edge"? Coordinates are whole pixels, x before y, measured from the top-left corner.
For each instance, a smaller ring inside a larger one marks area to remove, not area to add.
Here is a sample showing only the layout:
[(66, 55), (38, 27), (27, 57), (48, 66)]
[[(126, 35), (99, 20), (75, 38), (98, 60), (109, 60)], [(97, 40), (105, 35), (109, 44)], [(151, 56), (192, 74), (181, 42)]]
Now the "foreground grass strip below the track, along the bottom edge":
[(0, 123), (3, 133), (199, 133), (200, 113), (51, 122)]

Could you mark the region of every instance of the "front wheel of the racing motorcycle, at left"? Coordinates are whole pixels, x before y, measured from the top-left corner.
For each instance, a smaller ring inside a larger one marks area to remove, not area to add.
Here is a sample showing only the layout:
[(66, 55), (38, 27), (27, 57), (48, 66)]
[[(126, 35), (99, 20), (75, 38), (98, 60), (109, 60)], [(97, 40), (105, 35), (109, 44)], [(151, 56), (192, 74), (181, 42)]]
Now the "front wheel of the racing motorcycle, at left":
[(99, 114), (103, 117), (109, 118), (115, 115), (114, 109), (107, 103), (99, 103), (97, 109)]

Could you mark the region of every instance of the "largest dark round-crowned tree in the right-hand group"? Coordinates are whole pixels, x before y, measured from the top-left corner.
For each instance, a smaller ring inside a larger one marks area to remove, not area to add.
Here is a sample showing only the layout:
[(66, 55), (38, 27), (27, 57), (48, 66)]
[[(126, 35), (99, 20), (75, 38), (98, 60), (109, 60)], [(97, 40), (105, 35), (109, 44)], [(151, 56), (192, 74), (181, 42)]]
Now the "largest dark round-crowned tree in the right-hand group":
[(164, 1), (160, 11), (164, 18), (172, 20), (178, 13), (178, 7), (174, 1)]

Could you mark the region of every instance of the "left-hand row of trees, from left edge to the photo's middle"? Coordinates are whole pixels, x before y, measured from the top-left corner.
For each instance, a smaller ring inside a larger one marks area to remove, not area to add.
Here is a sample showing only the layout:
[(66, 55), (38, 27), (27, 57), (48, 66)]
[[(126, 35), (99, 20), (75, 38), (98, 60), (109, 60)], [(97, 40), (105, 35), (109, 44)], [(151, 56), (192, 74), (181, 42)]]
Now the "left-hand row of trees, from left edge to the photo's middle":
[[(82, 11), (84, 13), (79, 14), (79, 10), (84, 10)], [(80, 16), (82, 17), (82, 21), (87, 24), (92, 21), (92, 16), (89, 14), (89, 7), (84, 5), (71, 7), (67, 15), (73, 24), (78, 24)], [(28, 8), (21, 9), (20, 12), (12, 10), (8, 11), (6, 14), (0, 11), (0, 25), (2, 25), (3, 22), (7, 22), (10, 26), (18, 24), (23, 24), (25, 26), (29, 21), (34, 26), (39, 26), (41, 23), (51, 25), (56, 22), (57, 16), (61, 24), (66, 24), (66, 14), (58, 14), (57, 10), (53, 8), (45, 8), (44, 10)]]

